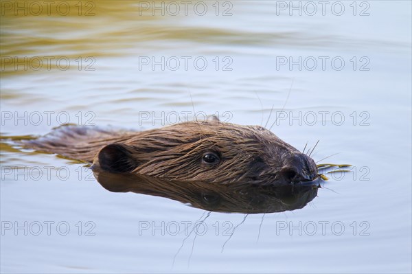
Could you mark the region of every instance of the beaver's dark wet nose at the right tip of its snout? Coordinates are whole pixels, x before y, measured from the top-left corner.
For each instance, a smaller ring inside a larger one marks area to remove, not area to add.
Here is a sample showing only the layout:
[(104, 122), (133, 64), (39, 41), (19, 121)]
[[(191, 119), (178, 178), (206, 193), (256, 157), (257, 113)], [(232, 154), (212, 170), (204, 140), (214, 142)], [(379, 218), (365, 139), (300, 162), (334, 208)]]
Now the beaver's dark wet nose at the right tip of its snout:
[(312, 181), (317, 176), (316, 163), (303, 153), (294, 153), (284, 159), (279, 179), (286, 183)]

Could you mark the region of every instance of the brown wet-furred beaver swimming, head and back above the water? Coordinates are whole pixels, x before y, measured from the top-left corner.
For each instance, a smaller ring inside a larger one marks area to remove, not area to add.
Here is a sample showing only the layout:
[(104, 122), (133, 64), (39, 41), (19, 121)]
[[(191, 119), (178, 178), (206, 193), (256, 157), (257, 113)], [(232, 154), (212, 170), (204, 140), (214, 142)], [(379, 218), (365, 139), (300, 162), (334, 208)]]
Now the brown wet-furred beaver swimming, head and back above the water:
[(288, 184), (311, 181), (317, 166), (262, 126), (218, 121), (107, 131), (62, 126), (27, 147), (92, 163), (106, 172), (209, 183)]

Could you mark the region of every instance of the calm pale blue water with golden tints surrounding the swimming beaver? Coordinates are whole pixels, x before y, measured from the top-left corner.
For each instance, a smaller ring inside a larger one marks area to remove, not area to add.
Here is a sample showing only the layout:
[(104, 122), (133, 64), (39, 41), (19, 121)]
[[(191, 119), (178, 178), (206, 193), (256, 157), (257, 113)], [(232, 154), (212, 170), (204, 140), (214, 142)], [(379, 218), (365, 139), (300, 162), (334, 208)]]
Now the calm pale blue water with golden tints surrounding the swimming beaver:
[[(1, 273), (411, 273), (410, 1), (45, 2), (0, 7)], [(8, 139), (272, 106), (266, 128), (352, 165), (293, 212), (206, 218)]]

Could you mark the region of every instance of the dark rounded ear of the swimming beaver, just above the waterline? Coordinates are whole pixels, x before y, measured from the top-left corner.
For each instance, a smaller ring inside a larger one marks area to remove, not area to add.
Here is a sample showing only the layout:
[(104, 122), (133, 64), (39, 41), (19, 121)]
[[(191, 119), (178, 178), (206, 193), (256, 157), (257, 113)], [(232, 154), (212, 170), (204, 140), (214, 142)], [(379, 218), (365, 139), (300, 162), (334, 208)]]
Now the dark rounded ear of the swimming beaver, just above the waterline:
[(124, 144), (105, 146), (100, 150), (98, 159), (100, 168), (108, 172), (130, 172), (138, 165), (128, 150), (128, 146)]

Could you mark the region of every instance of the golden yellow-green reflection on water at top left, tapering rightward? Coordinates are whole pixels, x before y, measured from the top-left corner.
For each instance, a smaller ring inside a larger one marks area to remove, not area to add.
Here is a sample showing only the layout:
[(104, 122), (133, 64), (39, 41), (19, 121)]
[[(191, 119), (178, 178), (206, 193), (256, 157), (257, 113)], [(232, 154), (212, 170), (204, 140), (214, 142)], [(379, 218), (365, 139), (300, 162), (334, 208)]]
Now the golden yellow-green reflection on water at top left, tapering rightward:
[[(165, 5), (165, 1), (47, 3), (2, 2), (0, 65), (3, 77), (36, 73), (44, 69), (94, 69), (96, 58), (150, 51), (157, 53), (181, 48), (182, 43), (187, 43), (188, 48), (203, 49), (203, 52), (220, 47), (220, 52), (229, 53), (233, 53), (233, 49), (249, 46), (307, 47), (331, 43), (323, 35), (307, 36), (305, 32), (293, 29), (273, 32), (268, 28), (269, 31), (255, 32), (253, 28), (242, 30), (233, 23), (220, 26), (193, 24), (190, 21), (190, 15), (194, 14), (192, 8), (187, 8), (187, 14), (186, 10), (181, 10), (176, 16), (168, 16), (164, 10), (155, 8)], [(146, 3), (150, 3), (150, 8), (147, 8)], [(205, 23), (218, 18), (212, 10), (206, 16), (197, 17), (205, 20)], [(231, 16), (224, 19), (227, 20), (223, 22), (229, 22)], [(228, 51), (228, 47), (232, 47), (232, 50)]]

